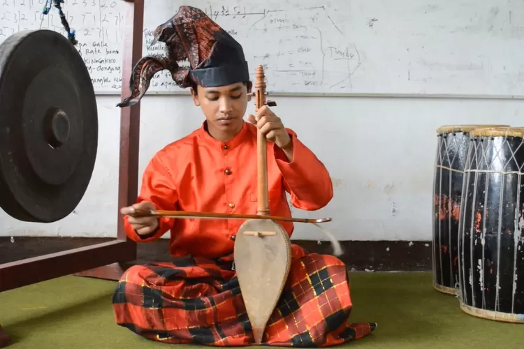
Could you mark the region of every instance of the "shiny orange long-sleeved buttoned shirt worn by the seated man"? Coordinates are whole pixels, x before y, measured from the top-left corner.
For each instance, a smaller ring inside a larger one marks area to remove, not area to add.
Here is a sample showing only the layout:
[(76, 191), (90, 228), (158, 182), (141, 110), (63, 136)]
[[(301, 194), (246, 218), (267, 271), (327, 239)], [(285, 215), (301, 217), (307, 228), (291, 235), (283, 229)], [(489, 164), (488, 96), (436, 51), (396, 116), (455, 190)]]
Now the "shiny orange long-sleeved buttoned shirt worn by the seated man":
[[(293, 161), (268, 142), (268, 191), (270, 214), (290, 217), (286, 200), (298, 209), (321, 209), (333, 198), (328, 170), (286, 128), (293, 142)], [(227, 142), (212, 138), (201, 128), (161, 149), (147, 165), (136, 202), (150, 201), (157, 209), (256, 214), (256, 127), (244, 122)], [(159, 239), (170, 230), (173, 256), (201, 255), (217, 258), (233, 253), (231, 239), (244, 223), (239, 219), (161, 218), (154, 235), (140, 237), (124, 216), (126, 235), (136, 242)], [(279, 222), (289, 233), (292, 222)]]

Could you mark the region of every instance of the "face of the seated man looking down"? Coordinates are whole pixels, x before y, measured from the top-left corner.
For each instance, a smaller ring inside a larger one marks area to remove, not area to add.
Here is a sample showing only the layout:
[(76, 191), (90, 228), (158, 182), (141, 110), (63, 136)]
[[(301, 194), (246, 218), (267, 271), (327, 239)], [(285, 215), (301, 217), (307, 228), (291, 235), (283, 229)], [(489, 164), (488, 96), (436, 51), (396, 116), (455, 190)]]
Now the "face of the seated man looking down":
[(230, 133), (239, 131), (242, 118), (251, 99), (247, 87), (242, 82), (221, 87), (198, 86), (198, 94), (191, 89), (191, 96), (197, 107), (201, 107), (208, 126)]

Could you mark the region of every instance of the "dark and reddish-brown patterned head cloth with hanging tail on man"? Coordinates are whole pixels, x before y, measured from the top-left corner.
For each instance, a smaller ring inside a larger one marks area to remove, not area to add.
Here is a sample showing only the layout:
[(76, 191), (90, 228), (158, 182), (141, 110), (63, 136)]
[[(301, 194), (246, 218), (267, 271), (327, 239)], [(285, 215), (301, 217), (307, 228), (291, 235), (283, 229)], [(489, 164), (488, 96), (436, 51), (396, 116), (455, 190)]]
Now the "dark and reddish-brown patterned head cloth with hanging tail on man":
[[(150, 80), (161, 70), (170, 71), (179, 87), (218, 87), (249, 80), (244, 50), (224, 29), (203, 11), (180, 6), (178, 13), (154, 31), (154, 43), (166, 43), (166, 56), (146, 56), (133, 68), (131, 96), (118, 107), (135, 105), (150, 87)], [(178, 65), (189, 61), (191, 68)]]

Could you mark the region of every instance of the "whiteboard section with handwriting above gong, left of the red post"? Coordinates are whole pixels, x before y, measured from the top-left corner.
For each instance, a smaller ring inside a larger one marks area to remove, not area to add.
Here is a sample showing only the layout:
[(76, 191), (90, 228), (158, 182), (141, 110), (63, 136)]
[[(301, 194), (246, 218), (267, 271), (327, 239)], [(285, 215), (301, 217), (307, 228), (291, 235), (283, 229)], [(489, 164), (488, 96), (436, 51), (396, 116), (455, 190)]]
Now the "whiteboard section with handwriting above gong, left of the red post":
[[(64, 36), (56, 8), (48, 15), (45, 0), (0, 0), (0, 41), (15, 31), (50, 29)], [(85, 61), (95, 91), (119, 91), (122, 85), (123, 15), (117, 0), (68, 0), (62, 3), (69, 27), (78, 39), (77, 50)]]

